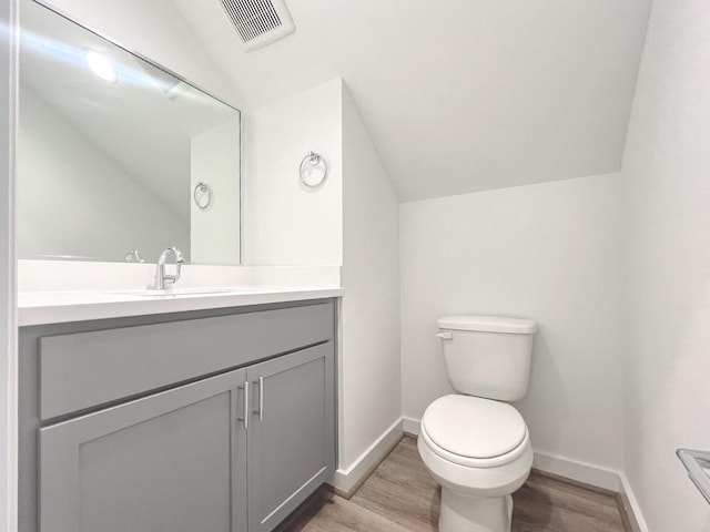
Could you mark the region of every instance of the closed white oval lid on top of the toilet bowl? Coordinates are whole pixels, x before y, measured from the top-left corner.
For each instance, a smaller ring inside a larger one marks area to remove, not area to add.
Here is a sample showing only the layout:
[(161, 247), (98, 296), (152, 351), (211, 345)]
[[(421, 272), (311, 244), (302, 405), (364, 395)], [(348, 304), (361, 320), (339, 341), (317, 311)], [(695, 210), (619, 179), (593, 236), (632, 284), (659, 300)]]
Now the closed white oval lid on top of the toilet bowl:
[(523, 416), (505, 402), (444, 396), (424, 412), (422, 426), (442, 449), (468, 458), (494, 458), (516, 449), (527, 434)]

